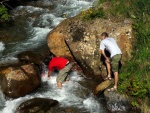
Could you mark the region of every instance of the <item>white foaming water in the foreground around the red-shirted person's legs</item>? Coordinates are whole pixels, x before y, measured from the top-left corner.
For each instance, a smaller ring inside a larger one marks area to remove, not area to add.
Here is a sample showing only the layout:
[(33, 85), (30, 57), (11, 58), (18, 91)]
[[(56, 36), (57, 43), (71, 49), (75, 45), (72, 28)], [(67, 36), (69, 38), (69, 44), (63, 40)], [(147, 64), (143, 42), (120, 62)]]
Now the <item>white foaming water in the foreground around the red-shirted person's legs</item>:
[[(74, 79), (72, 79), (72, 77), (74, 77)], [(94, 99), (88, 89), (78, 83), (78, 80), (81, 80), (78, 78), (82, 77), (75, 73), (72, 74), (70, 82), (64, 83), (63, 88), (58, 89), (56, 85), (56, 76), (51, 76), (47, 81), (48, 84), (43, 85), (36, 93), (18, 99), (7, 100), (5, 102), (6, 107), (2, 110), (2, 113), (13, 113), (20, 103), (33, 97), (55, 99), (59, 101), (62, 107), (76, 107), (84, 109), (83, 112), (104, 113), (101, 104)], [(85, 92), (91, 96), (88, 97), (88, 95), (85, 95)]]

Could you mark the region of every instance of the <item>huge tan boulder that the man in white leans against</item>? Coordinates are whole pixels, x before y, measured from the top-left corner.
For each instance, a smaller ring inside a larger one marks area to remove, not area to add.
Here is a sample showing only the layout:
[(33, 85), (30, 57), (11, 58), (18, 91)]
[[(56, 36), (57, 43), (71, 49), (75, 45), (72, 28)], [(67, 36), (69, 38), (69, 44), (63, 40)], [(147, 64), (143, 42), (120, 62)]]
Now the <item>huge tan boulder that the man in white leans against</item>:
[[(108, 32), (117, 40), (123, 52), (122, 63), (131, 57), (132, 22), (128, 19), (95, 19), (83, 21), (80, 15), (66, 19), (47, 36), (50, 51), (56, 56), (75, 59), (88, 77), (105, 75), (106, 67), (100, 61), (99, 51), (101, 33)], [(94, 76), (95, 75), (95, 76)]]

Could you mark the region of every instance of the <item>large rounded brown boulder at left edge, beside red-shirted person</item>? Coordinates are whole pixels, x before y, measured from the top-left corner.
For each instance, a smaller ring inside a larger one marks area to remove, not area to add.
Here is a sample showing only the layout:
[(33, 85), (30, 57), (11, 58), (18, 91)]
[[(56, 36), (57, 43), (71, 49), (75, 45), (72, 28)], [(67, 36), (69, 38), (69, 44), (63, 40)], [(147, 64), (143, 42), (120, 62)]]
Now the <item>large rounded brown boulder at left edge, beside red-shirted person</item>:
[(11, 66), (1, 70), (3, 93), (12, 98), (24, 96), (35, 90), (41, 82), (38, 68), (33, 64)]

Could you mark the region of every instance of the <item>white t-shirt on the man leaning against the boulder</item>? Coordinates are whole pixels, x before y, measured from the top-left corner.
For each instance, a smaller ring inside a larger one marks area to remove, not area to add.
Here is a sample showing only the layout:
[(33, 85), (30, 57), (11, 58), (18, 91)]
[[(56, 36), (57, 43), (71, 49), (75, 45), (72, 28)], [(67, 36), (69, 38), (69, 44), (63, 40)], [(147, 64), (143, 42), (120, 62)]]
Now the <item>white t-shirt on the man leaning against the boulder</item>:
[(106, 49), (110, 52), (111, 58), (117, 54), (122, 54), (114, 38), (105, 38), (100, 43), (100, 50)]

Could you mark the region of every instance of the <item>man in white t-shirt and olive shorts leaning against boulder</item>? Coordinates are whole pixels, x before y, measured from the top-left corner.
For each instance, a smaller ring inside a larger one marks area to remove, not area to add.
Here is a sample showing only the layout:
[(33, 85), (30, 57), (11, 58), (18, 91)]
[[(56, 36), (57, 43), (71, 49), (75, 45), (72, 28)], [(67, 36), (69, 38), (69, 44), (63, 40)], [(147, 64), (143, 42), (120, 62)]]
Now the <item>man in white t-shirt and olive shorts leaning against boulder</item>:
[[(122, 57), (122, 52), (118, 47), (114, 38), (109, 38), (106, 32), (101, 34), (102, 41), (100, 43), (100, 50), (102, 55), (105, 57), (105, 63), (108, 71), (107, 78), (105, 80), (111, 80), (111, 69), (114, 73), (115, 84), (114, 87), (108, 89), (108, 91), (117, 90), (118, 86), (118, 70), (119, 70), (119, 62)], [(110, 58), (108, 58), (105, 54), (105, 49), (109, 51)]]

